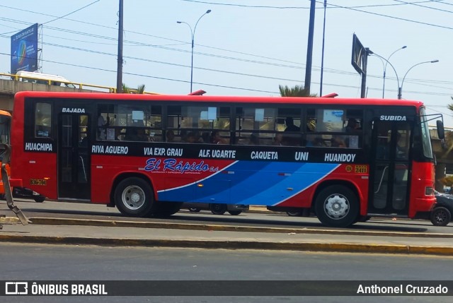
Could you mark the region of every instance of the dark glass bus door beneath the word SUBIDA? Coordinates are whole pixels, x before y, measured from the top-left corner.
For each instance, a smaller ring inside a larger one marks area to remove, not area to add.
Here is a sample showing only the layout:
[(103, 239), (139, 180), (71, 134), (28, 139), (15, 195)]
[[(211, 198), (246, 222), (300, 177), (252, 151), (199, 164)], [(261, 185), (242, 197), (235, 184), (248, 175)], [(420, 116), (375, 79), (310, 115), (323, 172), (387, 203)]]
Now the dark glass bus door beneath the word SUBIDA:
[(410, 123), (374, 121), (368, 214), (408, 215)]

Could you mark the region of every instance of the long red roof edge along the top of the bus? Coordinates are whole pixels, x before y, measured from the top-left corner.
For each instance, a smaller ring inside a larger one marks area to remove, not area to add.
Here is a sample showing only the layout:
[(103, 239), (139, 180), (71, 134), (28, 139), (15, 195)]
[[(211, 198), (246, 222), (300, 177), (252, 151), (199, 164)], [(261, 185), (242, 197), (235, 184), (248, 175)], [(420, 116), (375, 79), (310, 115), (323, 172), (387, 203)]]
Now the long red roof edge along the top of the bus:
[(316, 104), (316, 105), (388, 105), (415, 106), (423, 105), (421, 101), (372, 99), (372, 98), (332, 98), (332, 97), (257, 97), (257, 96), (215, 96), (215, 95), (144, 95), (144, 94), (112, 94), (112, 93), (65, 93), (21, 91), (17, 98), (46, 97), (68, 99), (98, 99), (98, 100), (156, 100), (183, 102), (226, 102), (226, 103), (261, 103), (261, 104)]

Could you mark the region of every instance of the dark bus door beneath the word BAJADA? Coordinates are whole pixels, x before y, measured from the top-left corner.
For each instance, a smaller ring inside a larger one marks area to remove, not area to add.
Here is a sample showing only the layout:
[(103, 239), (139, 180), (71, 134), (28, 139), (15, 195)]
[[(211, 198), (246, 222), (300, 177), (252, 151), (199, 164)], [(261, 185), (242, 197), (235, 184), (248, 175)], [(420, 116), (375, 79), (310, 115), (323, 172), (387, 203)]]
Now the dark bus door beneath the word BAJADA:
[(58, 197), (90, 200), (90, 116), (61, 112), (58, 117)]

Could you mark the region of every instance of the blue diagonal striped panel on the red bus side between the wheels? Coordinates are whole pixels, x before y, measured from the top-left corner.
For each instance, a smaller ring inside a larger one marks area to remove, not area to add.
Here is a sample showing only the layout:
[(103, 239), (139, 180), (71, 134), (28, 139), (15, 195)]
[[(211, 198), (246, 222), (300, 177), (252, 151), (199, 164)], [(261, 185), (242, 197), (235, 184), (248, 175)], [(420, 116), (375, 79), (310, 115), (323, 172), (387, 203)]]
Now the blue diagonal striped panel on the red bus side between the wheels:
[(338, 164), (239, 161), (234, 174), (215, 174), (200, 184), (161, 191), (164, 201), (236, 203), (272, 206), (319, 182)]

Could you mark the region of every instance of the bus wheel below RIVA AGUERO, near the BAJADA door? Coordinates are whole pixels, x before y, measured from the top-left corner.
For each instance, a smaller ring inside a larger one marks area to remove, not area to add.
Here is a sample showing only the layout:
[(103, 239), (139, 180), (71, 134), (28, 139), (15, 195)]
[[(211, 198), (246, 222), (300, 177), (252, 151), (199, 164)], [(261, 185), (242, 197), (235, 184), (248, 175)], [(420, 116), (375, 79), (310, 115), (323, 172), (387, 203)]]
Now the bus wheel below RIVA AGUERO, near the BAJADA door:
[(127, 217), (145, 217), (154, 203), (151, 186), (137, 177), (122, 180), (115, 189), (115, 206)]

